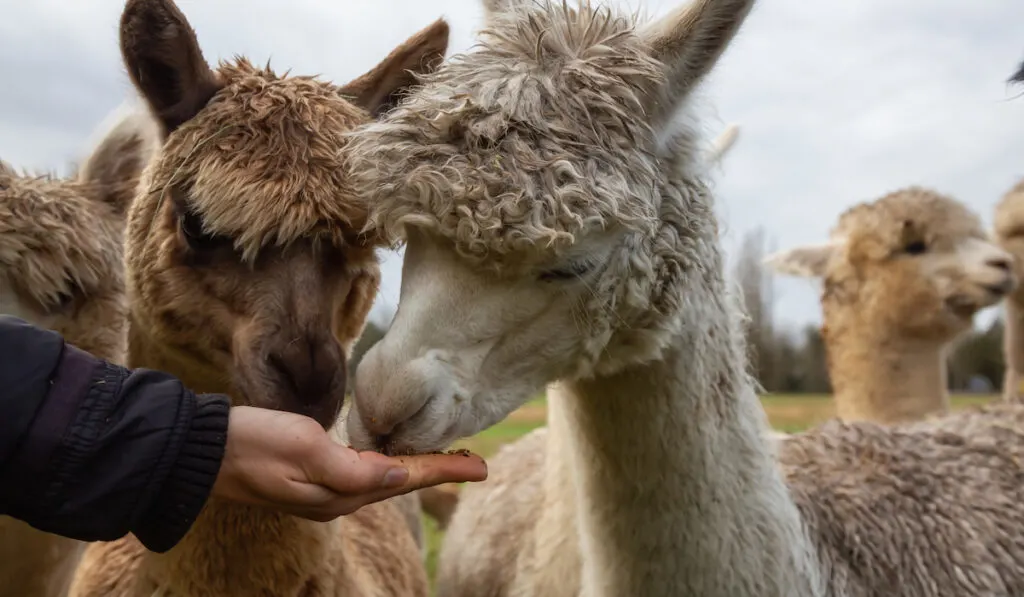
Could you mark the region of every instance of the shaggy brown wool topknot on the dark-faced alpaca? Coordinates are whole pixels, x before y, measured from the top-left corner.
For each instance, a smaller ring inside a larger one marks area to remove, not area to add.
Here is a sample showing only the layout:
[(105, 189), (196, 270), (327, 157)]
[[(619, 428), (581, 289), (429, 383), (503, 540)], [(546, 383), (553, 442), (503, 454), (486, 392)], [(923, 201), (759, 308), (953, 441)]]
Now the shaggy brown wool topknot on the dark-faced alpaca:
[(223, 88), (168, 138), (167, 157), (147, 179), (151, 195), (186, 198), (207, 231), (234, 239), (248, 261), (262, 247), (310, 234), (352, 243), (367, 214), (340, 199), (351, 195), (340, 131), (366, 113), (331, 84), (282, 77), (245, 57), (221, 61), (218, 75)]

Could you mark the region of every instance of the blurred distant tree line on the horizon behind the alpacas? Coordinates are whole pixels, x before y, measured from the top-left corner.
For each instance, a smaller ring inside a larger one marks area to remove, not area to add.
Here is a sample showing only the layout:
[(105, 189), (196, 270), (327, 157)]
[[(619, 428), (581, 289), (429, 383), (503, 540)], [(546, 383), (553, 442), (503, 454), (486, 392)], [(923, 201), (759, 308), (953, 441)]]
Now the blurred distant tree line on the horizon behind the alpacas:
[[(762, 228), (746, 233), (740, 244), (733, 282), (742, 291), (749, 316), (746, 344), (751, 372), (764, 390), (780, 393), (830, 393), (825, 347), (816, 326), (799, 331), (777, 327), (774, 312), (772, 272), (762, 264), (769, 253)], [(349, 371), (376, 344), (386, 326), (370, 322), (352, 349)], [(952, 390), (990, 391), (1002, 386), (1002, 321), (995, 319), (986, 330), (973, 330), (956, 343), (949, 354), (949, 387)]]

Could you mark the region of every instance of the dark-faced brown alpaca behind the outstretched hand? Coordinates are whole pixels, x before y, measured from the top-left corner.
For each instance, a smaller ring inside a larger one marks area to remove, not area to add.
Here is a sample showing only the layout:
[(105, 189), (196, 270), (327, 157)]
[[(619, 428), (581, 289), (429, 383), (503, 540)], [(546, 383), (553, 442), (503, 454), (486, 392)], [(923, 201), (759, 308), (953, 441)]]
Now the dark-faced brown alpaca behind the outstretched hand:
[[(335, 424), (379, 282), (342, 136), (435, 68), (447, 34), (437, 20), (337, 87), (244, 57), (213, 70), (173, 2), (128, 1), (121, 51), (165, 134), (126, 230), (131, 367)], [(167, 553), (89, 546), (70, 594), (404, 597), (427, 580), (392, 502), (324, 523), (211, 499)]]

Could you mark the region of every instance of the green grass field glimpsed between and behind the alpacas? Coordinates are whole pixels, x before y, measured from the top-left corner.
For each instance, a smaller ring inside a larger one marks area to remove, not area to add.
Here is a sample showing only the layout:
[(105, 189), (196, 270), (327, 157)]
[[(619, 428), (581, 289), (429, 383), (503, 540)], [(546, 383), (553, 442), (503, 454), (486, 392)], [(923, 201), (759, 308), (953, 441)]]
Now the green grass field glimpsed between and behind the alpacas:
[[(954, 410), (981, 404), (994, 399), (994, 395), (958, 394), (952, 397)], [(773, 394), (762, 397), (765, 412), (772, 427), (793, 433), (820, 423), (836, 414), (830, 396), (824, 394)], [(493, 455), (503, 443), (514, 441), (530, 430), (544, 425), (546, 403), (544, 398), (531, 400), (504, 421), (489, 429), (459, 441), (455, 447), (466, 447), (483, 458)], [(437, 565), (437, 551), (443, 532), (428, 517), (426, 520), (428, 553), (427, 571), (431, 580)]]

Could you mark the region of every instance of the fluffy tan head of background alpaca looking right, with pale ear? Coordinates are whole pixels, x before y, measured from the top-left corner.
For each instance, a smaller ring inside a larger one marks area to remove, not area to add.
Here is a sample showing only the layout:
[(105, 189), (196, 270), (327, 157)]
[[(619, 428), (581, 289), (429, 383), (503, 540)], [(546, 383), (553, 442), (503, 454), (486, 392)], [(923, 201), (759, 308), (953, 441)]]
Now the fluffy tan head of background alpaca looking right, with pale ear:
[(827, 243), (766, 261), (781, 273), (822, 280), (829, 334), (945, 343), (1017, 284), (1011, 255), (973, 212), (914, 186), (850, 208)]

